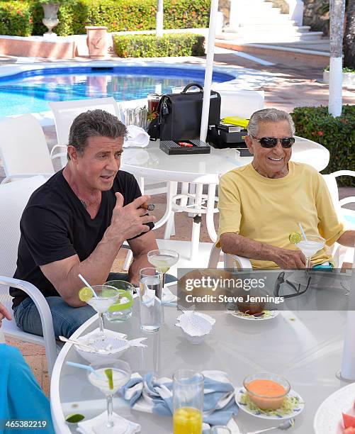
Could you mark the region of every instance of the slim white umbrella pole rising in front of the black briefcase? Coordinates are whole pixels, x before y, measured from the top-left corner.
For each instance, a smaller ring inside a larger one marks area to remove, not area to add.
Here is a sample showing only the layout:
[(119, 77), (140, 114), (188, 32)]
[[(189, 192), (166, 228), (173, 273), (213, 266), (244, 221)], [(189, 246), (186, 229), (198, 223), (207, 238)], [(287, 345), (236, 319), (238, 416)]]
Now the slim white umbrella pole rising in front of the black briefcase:
[(210, 85), (212, 83), (213, 57), (215, 54), (215, 26), (217, 23), (218, 0), (210, 4), (210, 27), (208, 28), (208, 45), (205, 69), (205, 84), (203, 87), (203, 104), (201, 116), (200, 140), (205, 141), (208, 128), (208, 113), (210, 112)]

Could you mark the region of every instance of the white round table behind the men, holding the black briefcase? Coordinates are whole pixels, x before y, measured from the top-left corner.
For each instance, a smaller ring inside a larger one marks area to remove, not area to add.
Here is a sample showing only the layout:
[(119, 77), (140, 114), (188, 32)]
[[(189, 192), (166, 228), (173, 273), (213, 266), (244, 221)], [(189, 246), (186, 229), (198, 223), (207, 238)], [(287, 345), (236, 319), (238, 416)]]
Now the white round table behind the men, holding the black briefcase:
[[(325, 169), (329, 162), (329, 151), (319, 143), (295, 136), (291, 160), (307, 163), (318, 171)], [(130, 172), (140, 181), (144, 191), (144, 178), (169, 181), (167, 196), (167, 209), (164, 216), (156, 223), (159, 228), (169, 221), (173, 211), (172, 198), (176, 195), (177, 182), (196, 183), (194, 208), (203, 210), (203, 185), (208, 185), (205, 210), (208, 235), (213, 243), (217, 240), (217, 233), (213, 223), (213, 209), (215, 205), (215, 191), (220, 175), (236, 167), (249, 164), (252, 157), (240, 157), (234, 149), (210, 149), (210, 154), (197, 155), (167, 155), (159, 149), (159, 140), (151, 141), (147, 148), (125, 148), (122, 157), (121, 169)], [(187, 192), (187, 190), (185, 191)], [(184, 208), (187, 211), (188, 208)], [(189, 209), (191, 211), (191, 208)], [(193, 212), (194, 214), (198, 212)], [(171, 221), (169, 222), (171, 224)], [(171, 226), (167, 225), (164, 238), (169, 238)], [(191, 260), (198, 254), (200, 224), (193, 223), (191, 235)]]

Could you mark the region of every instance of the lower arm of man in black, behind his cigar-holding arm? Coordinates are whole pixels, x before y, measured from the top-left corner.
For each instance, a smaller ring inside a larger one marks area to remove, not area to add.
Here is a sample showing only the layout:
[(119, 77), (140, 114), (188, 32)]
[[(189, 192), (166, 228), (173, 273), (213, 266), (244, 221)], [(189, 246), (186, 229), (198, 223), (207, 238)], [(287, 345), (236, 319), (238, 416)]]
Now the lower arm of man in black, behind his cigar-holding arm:
[(153, 265), (147, 260), (147, 252), (158, 248), (154, 231), (150, 230), (140, 237), (128, 241), (128, 244), (130, 245), (130, 248), (133, 252), (133, 262), (130, 265), (130, 269), (128, 271), (130, 282), (135, 285), (139, 285), (140, 269), (145, 267), (153, 267)]

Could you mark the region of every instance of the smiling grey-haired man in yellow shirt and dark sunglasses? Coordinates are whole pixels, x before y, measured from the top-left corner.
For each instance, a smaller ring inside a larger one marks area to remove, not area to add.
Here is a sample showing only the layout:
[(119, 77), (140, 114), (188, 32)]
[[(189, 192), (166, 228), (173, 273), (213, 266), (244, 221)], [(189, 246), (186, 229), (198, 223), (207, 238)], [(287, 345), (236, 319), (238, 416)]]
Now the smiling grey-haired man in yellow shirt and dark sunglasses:
[[(298, 222), (327, 246), (354, 246), (355, 230), (344, 230), (322, 175), (290, 161), (294, 133), (286, 111), (256, 111), (245, 138), (252, 163), (220, 179), (218, 243), (225, 253), (250, 258), (253, 268), (305, 268), (305, 256), (288, 240)], [(332, 263), (327, 247), (312, 257), (312, 265), (325, 262)]]

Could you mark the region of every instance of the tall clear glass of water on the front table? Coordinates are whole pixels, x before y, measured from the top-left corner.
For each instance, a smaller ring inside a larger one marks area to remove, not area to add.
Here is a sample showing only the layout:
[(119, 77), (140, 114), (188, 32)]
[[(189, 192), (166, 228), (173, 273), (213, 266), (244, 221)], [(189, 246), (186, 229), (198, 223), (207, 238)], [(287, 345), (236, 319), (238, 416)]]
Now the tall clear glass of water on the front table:
[(162, 324), (162, 272), (147, 267), (140, 270), (140, 328), (159, 330)]

